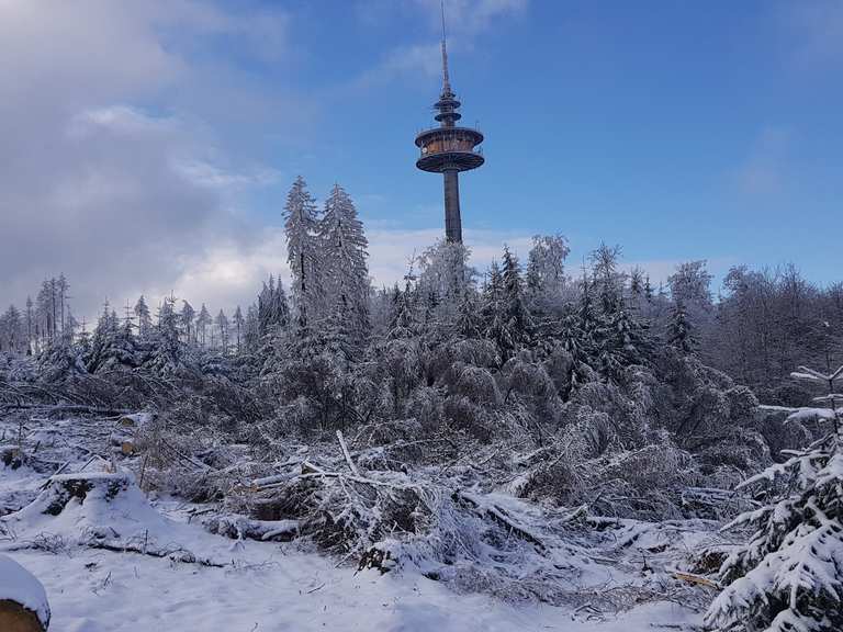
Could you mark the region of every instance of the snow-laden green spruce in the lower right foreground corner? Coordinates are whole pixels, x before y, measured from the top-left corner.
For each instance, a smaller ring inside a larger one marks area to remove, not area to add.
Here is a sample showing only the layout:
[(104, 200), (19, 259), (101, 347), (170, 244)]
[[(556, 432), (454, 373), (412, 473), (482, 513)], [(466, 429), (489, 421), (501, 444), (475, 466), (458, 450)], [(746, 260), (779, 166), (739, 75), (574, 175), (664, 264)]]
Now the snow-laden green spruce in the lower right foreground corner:
[(836, 632), (843, 630), (843, 437), (835, 385), (843, 366), (823, 374), (805, 366), (794, 377), (822, 385), (822, 410), (833, 431), (789, 459), (745, 481), (765, 484), (775, 498), (726, 529), (751, 527), (750, 541), (720, 568), (728, 584), (706, 613), (706, 623), (726, 632)]

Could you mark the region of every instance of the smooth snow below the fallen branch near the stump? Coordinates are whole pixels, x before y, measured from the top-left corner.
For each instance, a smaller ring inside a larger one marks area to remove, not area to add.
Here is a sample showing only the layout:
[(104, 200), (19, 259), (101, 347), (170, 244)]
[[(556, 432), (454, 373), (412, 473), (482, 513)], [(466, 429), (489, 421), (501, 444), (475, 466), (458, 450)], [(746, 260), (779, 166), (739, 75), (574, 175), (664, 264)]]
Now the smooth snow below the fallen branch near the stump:
[(53, 603), (53, 628), (67, 632), (147, 632), (161, 627), (244, 632), (632, 632), (659, 622), (695, 622), (687, 610), (667, 602), (587, 621), (564, 608), (458, 596), (420, 576), (356, 574), (313, 554), (251, 544), (246, 543), (246, 550), (256, 554), (252, 562), (232, 568), (88, 550), (13, 555), (43, 578)]

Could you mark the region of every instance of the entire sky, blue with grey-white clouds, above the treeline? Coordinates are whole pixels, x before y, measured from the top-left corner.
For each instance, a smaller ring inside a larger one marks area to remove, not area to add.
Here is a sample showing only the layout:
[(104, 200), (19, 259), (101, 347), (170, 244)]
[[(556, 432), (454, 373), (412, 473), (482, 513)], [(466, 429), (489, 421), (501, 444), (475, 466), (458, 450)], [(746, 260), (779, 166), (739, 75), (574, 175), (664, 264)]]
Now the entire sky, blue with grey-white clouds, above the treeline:
[[(448, 13), (452, 83), (486, 135), (461, 179), (477, 264), (562, 233), (575, 267), (605, 240), (656, 279), (690, 259), (840, 278), (843, 1)], [(413, 144), (434, 124), (438, 40), (438, 0), (3, 3), (0, 229), (20, 248), (0, 256), (0, 301), (65, 271), (86, 309), (248, 302), (283, 273), (299, 173), (319, 199), (349, 190), (375, 279), (398, 278), (442, 232), (441, 180)]]

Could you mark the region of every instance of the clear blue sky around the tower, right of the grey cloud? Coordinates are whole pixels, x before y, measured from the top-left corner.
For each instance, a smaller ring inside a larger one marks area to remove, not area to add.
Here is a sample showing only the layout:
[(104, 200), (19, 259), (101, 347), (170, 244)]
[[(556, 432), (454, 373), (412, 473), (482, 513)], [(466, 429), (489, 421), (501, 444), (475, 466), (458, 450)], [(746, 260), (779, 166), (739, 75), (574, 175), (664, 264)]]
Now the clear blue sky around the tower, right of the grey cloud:
[[(604, 239), (633, 261), (795, 261), (836, 280), (840, 2), (497, 5), (470, 26), (460, 3), (450, 25), (464, 120), (487, 137), (486, 166), (462, 179), (469, 230), (562, 232), (575, 257)], [(435, 56), (435, 7), (286, 7), (295, 67), (251, 69), (321, 106), (299, 147), (268, 143), (265, 159), (317, 192), (339, 180), (372, 224), (440, 225), (439, 178), (413, 168), (412, 142), (430, 122), (436, 59), (384, 68), (413, 46)], [(260, 201), (268, 222), (282, 192)]]

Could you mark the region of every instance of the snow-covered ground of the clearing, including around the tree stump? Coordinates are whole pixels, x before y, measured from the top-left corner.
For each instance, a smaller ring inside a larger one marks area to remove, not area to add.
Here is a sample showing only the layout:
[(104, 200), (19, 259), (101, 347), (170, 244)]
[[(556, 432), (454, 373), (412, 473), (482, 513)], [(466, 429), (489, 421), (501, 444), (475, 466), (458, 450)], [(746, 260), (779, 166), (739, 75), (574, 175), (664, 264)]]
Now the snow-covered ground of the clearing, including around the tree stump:
[[(41, 441), (38, 454), (70, 462), (65, 474), (54, 477), (57, 483), (72, 478), (67, 473), (88, 461), (72, 448), (76, 440), (68, 441), (80, 424), (45, 425), (58, 431), (33, 435)], [(54, 516), (47, 510), (54, 499), (50, 488), (44, 490), (49, 473), (36, 470), (0, 464), (0, 507), (23, 507), (0, 519), (0, 552), (46, 588), (50, 630), (699, 630), (698, 614), (675, 600), (648, 601), (619, 616), (587, 603), (578, 609), (513, 603), (484, 594), (457, 594), (412, 569), (358, 572), (352, 564), (293, 544), (233, 541), (189, 521), (192, 508), (183, 503), (149, 504), (132, 475), (98, 474), (101, 488), (88, 490), (83, 501), (71, 498)], [(116, 500), (111, 485), (123, 485)], [(659, 538), (671, 529), (631, 529), (627, 537), (659, 551)], [(105, 549), (91, 548), (92, 541)], [(147, 549), (171, 553), (154, 557), (143, 554)], [(593, 565), (589, 578), (619, 589), (630, 582), (628, 568), (610, 564)]]

